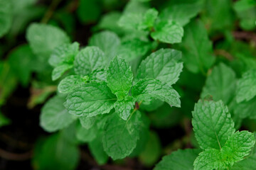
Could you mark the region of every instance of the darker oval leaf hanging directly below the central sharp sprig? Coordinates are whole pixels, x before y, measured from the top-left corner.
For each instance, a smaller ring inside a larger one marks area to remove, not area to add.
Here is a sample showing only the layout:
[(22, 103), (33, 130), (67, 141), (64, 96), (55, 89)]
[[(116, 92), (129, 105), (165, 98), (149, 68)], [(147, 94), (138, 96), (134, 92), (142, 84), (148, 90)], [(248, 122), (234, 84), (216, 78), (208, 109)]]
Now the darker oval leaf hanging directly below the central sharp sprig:
[(102, 143), (105, 152), (112, 159), (123, 159), (132, 153), (139, 140), (141, 114), (134, 113), (129, 120), (122, 120), (117, 113), (113, 113), (107, 120)]

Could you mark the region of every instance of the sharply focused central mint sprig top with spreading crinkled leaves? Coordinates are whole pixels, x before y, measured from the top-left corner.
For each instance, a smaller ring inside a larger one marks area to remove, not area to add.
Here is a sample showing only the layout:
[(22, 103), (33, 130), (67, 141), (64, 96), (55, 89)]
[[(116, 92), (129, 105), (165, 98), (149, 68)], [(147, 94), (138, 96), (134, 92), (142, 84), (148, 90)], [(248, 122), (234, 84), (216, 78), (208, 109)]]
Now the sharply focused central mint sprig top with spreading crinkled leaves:
[(171, 87), (182, 69), (180, 57), (181, 52), (176, 50), (161, 49), (152, 53), (140, 65), (134, 86), (131, 67), (123, 59), (114, 57), (107, 69), (107, 83), (82, 84), (68, 95), (65, 107), (73, 115), (87, 117), (110, 113), (115, 108), (124, 120), (129, 117), (135, 101), (156, 98), (180, 107), (178, 93)]

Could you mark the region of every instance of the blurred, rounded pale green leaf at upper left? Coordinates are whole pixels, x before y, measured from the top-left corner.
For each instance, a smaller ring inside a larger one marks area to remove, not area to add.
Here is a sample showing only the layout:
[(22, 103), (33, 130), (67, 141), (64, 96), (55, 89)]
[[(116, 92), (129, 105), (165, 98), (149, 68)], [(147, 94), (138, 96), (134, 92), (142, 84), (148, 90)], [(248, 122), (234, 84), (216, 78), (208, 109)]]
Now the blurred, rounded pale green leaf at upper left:
[(42, 60), (48, 60), (55, 47), (70, 42), (63, 30), (43, 23), (31, 24), (28, 27), (26, 39), (33, 52)]

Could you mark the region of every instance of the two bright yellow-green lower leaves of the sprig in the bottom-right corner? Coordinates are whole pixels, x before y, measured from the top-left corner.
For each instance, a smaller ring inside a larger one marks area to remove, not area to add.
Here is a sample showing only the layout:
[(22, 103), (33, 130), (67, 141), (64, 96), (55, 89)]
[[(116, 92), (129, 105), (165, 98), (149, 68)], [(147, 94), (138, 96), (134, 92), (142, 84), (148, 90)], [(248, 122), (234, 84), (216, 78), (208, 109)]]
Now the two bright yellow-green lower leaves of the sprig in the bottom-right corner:
[(255, 137), (251, 132), (235, 132), (222, 149), (206, 149), (201, 152), (194, 162), (195, 169), (228, 169), (244, 159), (254, 144)]

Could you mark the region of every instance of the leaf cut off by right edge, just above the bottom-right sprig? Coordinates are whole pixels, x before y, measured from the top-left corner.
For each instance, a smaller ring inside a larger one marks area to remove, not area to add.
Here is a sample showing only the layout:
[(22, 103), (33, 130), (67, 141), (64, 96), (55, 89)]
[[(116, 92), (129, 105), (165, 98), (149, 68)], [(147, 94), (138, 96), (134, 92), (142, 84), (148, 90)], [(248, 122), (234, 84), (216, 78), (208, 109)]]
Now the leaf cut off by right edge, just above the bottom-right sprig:
[(256, 96), (256, 69), (251, 69), (244, 74), (242, 78), (238, 80), (238, 88), (236, 91), (236, 101), (238, 103), (242, 101), (250, 101)]

